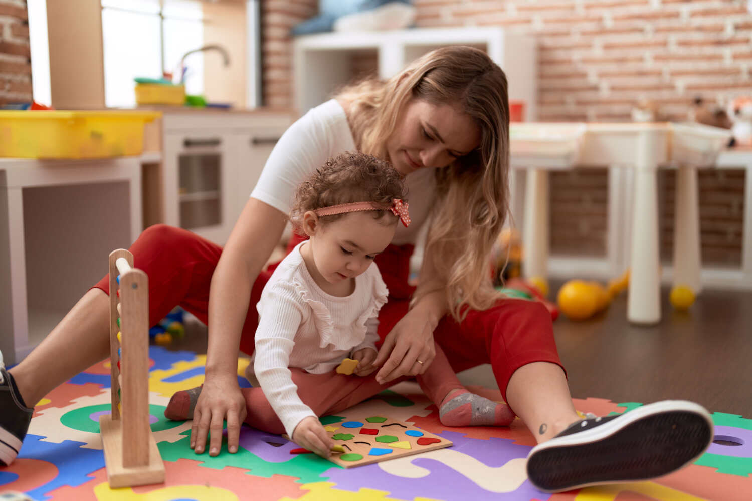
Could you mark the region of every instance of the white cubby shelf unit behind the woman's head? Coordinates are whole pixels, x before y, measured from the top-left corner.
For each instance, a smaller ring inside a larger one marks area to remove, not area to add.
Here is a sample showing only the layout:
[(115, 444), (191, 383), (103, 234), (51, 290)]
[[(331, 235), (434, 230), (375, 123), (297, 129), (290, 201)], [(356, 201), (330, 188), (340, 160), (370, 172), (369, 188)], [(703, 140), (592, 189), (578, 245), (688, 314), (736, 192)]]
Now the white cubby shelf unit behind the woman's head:
[(535, 38), (498, 27), (405, 29), (389, 32), (332, 32), (295, 39), (295, 107), (303, 114), (332, 97), (353, 78), (353, 54), (374, 51), (378, 77), (398, 74), (417, 57), (438, 47), (470, 45), (485, 50), (505, 71), (510, 101), (525, 104), (523, 120), (537, 116), (537, 46)]

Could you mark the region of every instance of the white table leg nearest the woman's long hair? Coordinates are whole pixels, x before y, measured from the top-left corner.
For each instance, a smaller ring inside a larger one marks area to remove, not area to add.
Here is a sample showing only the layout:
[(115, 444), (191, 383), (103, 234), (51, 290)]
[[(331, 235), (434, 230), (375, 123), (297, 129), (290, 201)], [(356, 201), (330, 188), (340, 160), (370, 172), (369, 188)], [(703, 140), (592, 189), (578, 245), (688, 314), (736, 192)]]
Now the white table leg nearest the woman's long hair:
[(529, 169), (525, 183), (525, 220), (523, 222), (523, 274), (526, 277), (548, 275), (548, 172)]

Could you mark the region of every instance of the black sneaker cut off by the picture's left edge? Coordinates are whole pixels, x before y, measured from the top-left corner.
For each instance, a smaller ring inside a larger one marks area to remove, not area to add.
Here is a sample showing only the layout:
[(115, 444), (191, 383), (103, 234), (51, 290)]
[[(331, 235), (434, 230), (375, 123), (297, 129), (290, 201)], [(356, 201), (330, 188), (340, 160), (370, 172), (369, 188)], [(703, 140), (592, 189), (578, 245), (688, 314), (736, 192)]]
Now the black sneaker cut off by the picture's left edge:
[(0, 355), (0, 466), (8, 466), (21, 450), (34, 409), (22, 406), (11, 386)]

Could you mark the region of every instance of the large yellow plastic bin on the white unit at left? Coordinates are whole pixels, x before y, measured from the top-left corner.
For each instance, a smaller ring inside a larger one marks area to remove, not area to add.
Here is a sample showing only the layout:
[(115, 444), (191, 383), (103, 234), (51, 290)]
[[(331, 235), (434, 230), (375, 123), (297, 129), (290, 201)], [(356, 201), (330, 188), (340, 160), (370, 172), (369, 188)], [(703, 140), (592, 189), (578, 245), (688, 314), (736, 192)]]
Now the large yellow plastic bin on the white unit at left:
[(0, 157), (108, 158), (141, 155), (155, 111), (0, 111)]

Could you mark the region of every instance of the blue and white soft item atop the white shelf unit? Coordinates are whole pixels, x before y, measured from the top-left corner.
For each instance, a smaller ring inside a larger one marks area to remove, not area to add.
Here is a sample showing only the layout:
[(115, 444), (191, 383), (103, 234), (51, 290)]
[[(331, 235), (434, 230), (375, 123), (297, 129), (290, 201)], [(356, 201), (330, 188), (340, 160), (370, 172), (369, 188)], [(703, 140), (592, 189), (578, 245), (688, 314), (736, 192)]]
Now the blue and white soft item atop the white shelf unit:
[(321, 32), (403, 29), (415, 21), (412, 0), (319, 0), (319, 14), (290, 30), (293, 35)]

